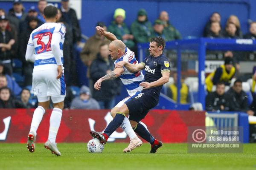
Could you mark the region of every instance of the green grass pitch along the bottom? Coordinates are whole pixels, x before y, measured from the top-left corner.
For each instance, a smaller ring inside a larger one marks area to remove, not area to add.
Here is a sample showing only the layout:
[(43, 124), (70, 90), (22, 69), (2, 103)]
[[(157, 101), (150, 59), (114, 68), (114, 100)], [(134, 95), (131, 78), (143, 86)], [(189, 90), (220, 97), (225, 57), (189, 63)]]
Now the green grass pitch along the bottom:
[(256, 144), (244, 144), (244, 153), (187, 153), (187, 144), (163, 144), (155, 154), (144, 143), (122, 153), (128, 143), (108, 143), (103, 153), (87, 152), (86, 143), (60, 143), (57, 157), (36, 144), (0, 143), (0, 170), (256, 170)]

